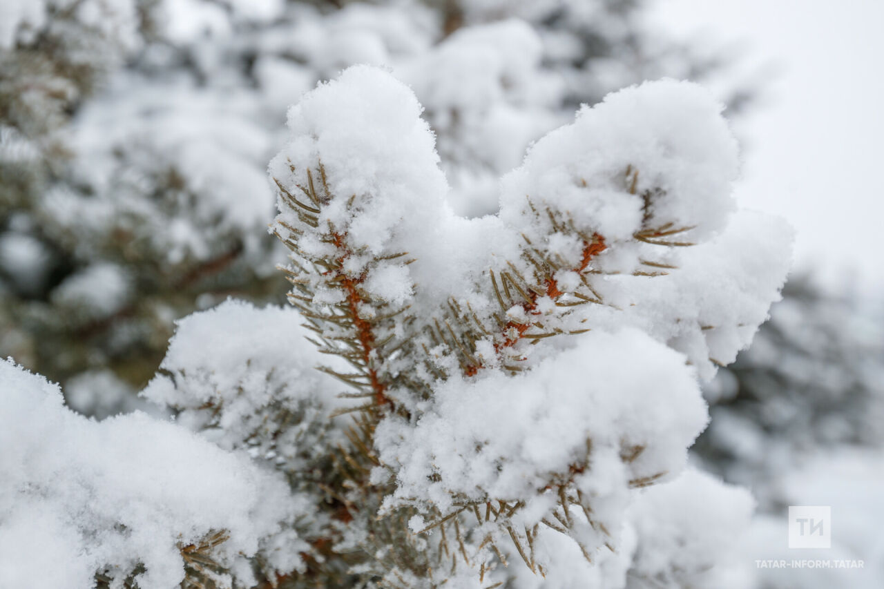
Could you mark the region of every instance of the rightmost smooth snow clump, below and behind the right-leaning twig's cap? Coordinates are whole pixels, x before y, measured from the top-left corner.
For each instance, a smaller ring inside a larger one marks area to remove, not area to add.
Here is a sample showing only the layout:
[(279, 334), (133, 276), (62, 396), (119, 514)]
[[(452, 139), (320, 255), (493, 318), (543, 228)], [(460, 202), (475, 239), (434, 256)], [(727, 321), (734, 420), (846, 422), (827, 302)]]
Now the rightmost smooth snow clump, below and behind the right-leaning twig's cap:
[[(712, 241), (685, 249), (676, 269), (653, 278), (653, 288), (629, 289), (619, 302), (711, 379), (749, 346), (771, 302), (780, 300), (791, 242), (782, 219), (741, 210)], [(623, 287), (623, 279), (612, 282)]]

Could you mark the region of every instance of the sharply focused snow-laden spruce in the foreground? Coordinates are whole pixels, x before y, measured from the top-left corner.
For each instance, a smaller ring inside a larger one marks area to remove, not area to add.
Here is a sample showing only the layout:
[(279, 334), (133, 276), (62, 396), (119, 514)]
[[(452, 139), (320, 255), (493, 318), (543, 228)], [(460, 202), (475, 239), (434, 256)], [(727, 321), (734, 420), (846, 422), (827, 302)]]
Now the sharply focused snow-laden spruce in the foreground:
[(356, 66), (289, 111), (292, 304), (179, 322), (143, 392), (174, 423), (88, 421), (2, 366), (0, 580), (727, 586), (751, 499), (687, 448), (790, 233), (735, 212), (720, 104), (662, 80), (584, 107), (484, 218), (450, 210), (421, 110)]

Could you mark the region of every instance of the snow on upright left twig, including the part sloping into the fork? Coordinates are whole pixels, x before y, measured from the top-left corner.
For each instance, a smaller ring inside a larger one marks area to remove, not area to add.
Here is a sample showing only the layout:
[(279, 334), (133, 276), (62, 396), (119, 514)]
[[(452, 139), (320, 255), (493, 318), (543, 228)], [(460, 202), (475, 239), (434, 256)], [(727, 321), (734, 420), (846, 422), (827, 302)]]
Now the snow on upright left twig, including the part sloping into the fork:
[[(315, 214), (316, 227), (299, 238), (301, 255), (342, 255), (331, 243), (338, 235), (348, 252), (344, 271), (367, 294), (391, 303), (386, 313), (415, 295), (435, 308), (449, 290), (471, 290), (470, 272), (484, 268), (491, 243), (513, 241), (498, 240), (496, 221), (464, 223), (448, 209), (446, 178), (421, 111), (414, 93), (392, 75), (354, 66), (293, 106), (291, 139), (270, 165), (271, 181), (278, 182), (275, 229), (287, 234), (287, 227), (303, 226), (302, 215)], [(311, 183), (318, 206), (305, 194)], [(310, 280), (321, 293), (323, 275)], [(415, 284), (423, 285), (420, 293), (412, 292)]]

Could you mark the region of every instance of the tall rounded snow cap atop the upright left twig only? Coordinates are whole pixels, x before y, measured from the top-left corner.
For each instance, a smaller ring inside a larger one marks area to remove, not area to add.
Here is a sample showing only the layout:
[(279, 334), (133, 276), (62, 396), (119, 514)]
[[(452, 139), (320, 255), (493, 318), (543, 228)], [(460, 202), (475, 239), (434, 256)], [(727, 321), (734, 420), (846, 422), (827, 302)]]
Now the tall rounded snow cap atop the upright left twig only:
[(389, 251), (393, 228), (404, 219), (431, 226), (447, 190), (421, 110), (392, 76), (352, 67), (289, 111), (292, 140), (273, 158), (271, 175), (304, 198), (297, 186), (309, 186), (308, 171), (323, 188), (321, 163), (330, 194), (323, 192), (320, 224), (331, 223), (371, 254), (398, 253)]

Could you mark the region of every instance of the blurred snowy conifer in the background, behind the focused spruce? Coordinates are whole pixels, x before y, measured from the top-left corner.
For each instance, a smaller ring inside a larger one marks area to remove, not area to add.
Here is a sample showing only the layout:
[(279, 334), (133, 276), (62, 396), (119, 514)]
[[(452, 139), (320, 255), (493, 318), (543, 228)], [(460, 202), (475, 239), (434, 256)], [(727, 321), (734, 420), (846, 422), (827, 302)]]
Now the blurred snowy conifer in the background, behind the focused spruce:
[(468, 216), (496, 212), (499, 176), (579, 103), (661, 75), (711, 80), (700, 51), (641, 26), (642, 4), (556, 4), (11, 3), (0, 355), (103, 417), (133, 408), (175, 319), (230, 295), (283, 301), (285, 249), (261, 233), (264, 167), (286, 107), (348, 65), (391, 67), (415, 88), (446, 199)]

